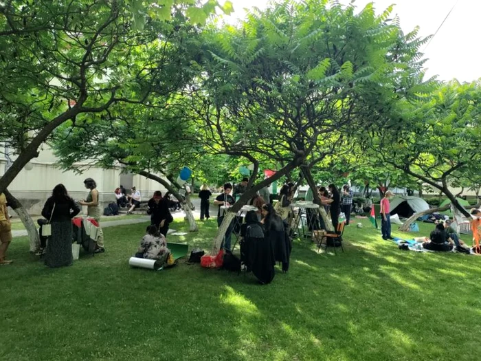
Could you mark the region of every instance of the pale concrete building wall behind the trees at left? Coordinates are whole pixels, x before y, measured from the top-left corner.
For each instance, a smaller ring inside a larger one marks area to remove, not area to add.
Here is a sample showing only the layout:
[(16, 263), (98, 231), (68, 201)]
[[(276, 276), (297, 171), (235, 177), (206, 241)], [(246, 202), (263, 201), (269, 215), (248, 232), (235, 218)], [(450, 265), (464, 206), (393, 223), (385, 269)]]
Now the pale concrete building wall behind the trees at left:
[[(0, 152), (3, 155), (2, 148), (0, 148)], [(12, 157), (12, 160), (14, 160), (14, 157)], [(59, 183), (65, 185), (72, 198), (76, 200), (85, 199), (89, 190), (85, 188), (83, 181), (87, 177), (93, 178), (97, 182), (102, 206), (107, 206), (107, 204), (115, 201), (113, 191), (120, 186), (121, 176), (124, 181), (131, 180), (144, 200), (150, 198), (155, 190), (161, 190), (162, 193), (166, 192), (166, 189), (157, 182), (140, 175), (121, 175), (122, 168), (120, 167), (114, 169), (92, 167), (79, 175), (73, 171), (62, 171), (56, 168), (56, 162), (55, 155), (45, 146), (39, 156), (30, 162), (32, 169), (27, 171), (25, 168), (28, 167), (25, 167), (8, 187), (10, 193), (21, 201), (31, 215), (41, 213), (45, 201), (52, 195), (52, 189)], [(86, 164), (87, 162), (79, 163), (78, 167), (85, 167)], [(0, 155), (0, 174), (5, 172), (6, 165), (7, 160)], [(126, 188), (129, 186), (128, 184), (122, 185)], [(87, 212), (86, 209), (85, 212)]]

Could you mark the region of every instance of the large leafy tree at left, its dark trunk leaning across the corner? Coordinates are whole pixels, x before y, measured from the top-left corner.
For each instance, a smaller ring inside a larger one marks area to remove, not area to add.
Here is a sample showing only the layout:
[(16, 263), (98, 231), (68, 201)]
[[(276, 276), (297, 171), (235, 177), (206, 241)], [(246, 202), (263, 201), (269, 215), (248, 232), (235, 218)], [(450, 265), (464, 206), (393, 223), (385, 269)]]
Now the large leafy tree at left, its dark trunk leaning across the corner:
[[(0, 178), (0, 193), (56, 127), (83, 117), (102, 120), (115, 104), (142, 103), (177, 86), (183, 76), (179, 59), (185, 58), (178, 54), (190, 51), (184, 40), (196, 31), (186, 16), (202, 23), (219, 5), (187, 2), (0, 3), (0, 140), (13, 159)], [(230, 3), (225, 10), (232, 10)], [(25, 223), (35, 237), (31, 219)]]

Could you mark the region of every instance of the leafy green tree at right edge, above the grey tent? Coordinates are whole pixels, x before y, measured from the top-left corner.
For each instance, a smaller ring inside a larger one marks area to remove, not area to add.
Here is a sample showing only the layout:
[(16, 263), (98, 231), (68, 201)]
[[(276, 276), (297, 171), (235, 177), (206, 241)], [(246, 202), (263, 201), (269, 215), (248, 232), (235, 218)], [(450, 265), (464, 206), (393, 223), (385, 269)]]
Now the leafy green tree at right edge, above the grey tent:
[(405, 102), (401, 121), (372, 142), (381, 162), (443, 193), (466, 217), (449, 186), (480, 164), (480, 96), (480, 82), (451, 81), (432, 96)]

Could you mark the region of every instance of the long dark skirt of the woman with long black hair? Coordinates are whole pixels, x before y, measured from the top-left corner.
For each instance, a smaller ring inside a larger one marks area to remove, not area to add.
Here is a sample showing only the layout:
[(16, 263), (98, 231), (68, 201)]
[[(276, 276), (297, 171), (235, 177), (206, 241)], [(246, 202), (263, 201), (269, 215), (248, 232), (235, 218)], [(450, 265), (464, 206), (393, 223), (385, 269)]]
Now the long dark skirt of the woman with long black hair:
[(45, 265), (49, 267), (71, 265), (74, 262), (72, 238), (71, 221), (52, 222), (52, 236), (48, 237)]

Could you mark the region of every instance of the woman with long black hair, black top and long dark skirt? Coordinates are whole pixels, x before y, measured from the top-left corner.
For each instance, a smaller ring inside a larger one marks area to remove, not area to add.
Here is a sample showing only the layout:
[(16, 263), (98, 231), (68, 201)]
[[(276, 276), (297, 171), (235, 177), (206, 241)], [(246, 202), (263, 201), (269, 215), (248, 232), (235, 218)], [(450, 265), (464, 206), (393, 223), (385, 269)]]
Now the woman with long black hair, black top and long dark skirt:
[(43, 206), (42, 215), (49, 220), (52, 234), (48, 237), (45, 250), (45, 265), (48, 267), (64, 267), (74, 262), (72, 257), (71, 219), (80, 212), (80, 207), (69, 197), (63, 184), (58, 184)]

